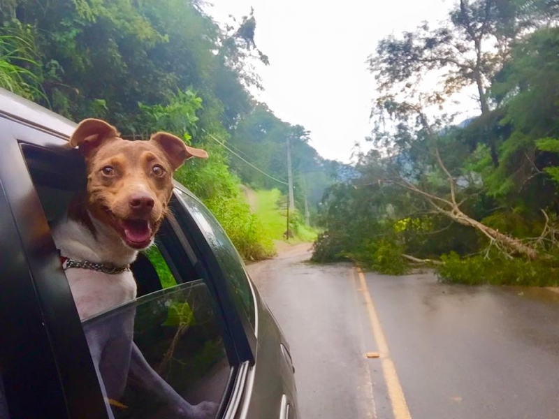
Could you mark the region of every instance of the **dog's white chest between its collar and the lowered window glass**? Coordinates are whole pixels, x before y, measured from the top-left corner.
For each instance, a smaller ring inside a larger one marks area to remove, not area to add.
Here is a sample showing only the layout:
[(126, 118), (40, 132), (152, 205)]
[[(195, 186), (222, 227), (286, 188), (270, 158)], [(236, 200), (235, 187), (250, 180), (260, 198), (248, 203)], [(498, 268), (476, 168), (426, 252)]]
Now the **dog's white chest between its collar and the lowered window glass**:
[(131, 272), (105, 274), (71, 268), (66, 270), (66, 277), (82, 320), (136, 298)]

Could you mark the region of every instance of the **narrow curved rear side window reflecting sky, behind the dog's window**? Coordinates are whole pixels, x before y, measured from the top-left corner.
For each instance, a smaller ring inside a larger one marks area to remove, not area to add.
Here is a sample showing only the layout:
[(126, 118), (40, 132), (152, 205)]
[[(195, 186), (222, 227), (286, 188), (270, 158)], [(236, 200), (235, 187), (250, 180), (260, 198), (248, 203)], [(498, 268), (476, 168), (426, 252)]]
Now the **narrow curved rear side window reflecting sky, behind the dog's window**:
[(184, 205), (187, 205), (189, 212), (196, 219), (205, 237), (208, 238), (220, 267), (235, 290), (235, 304), (245, 312), (254, 329), (254, 298), (238, 251), (222, 226), (204, 205), (182, 191), (178, 191), (178, 196)]

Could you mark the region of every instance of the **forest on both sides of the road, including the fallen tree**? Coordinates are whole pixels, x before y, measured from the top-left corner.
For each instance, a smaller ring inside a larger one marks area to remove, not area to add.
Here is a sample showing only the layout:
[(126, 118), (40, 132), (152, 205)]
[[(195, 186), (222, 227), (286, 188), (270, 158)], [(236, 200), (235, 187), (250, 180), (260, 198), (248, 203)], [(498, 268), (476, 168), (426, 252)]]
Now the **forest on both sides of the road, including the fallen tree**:
[[(201, 0), (0, 0), (0, 87), (124, 138), (169, 131), (207, 149), (176, 177), (246, 260), (271, 256), (284, 228), (272, 233), (243, 189), (274, 190), (284, 216), (289, 143), (289, 228), (319, 229), (314, 261), (557, 286), (558, 17), (558, 0), (456, 0), (446, 20), (371, 45), (375, 128), (351, 166), (250, 93), (263, 89), (255, 64), (273, 61), (252, 10), (217, 24)], [(460, 119), (465, 92), (476, 112)]]

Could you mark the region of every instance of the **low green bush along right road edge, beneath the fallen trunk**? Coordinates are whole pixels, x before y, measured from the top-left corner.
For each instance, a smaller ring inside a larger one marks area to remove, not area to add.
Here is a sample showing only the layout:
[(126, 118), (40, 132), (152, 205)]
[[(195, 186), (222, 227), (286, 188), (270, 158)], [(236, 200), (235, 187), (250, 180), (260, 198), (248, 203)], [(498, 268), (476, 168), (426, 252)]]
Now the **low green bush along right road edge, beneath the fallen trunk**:
[(509, 259), (497, 251), (487, 256), (460, 258), (457, 253), (442, 256), (437, 268), (442, 281), (467, 285), (558, 286), (559, 260)]

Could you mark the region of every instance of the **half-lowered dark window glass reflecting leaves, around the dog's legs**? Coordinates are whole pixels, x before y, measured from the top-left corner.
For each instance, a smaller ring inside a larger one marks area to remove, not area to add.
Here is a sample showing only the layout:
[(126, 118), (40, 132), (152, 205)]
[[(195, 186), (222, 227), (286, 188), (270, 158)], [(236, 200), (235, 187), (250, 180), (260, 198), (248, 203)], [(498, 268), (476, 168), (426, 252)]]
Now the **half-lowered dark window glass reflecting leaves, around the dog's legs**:
[[(133, 341), (154, 372), (191, 405), (205, 402), (217, 410), (230, 366), (221, 329), (203, 281), (197, 280), (140, 297), (84, 323), (86, 335), (102, 335), (114, 324), (133, 317)], [(125, 340), (125, 339), (124, 339)], [(109, 390), (118, 375), (110, 361), (112, 348), (101, 362), (101, 376)], [(165, 391), (145, 372), (138, 373), (138, 358), (131, 357), (124, 396), (111, 400), (116, 418), (168, 418), (175, 406)], [(109, 395), (110, 398), (110, 395)]]

